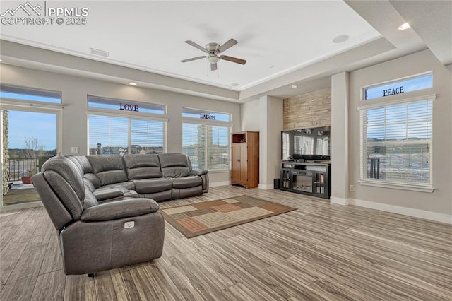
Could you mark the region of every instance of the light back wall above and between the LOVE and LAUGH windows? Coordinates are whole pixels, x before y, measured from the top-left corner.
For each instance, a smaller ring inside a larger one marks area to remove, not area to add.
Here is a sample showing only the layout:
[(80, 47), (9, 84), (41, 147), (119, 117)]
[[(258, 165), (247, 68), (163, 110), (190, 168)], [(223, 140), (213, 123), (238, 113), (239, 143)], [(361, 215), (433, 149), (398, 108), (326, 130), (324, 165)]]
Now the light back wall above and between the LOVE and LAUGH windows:
[[(72, 146), (78, 146), (80, 150), (78, 155), (88, 153), (87, 95), (167, 105), (167, 153), (182, 151), (182, 107), (230, 113), (233, 122), (232, 131), (240, 129), (240, 105), (232, 102), (66, 76), (6, 64), (1, 64), (0, 76), (1, 83), (6, 85), (61, 91), (64, 105), (61, 149), (63, 155), (75, 155), (71, 153)], [(229, 182), (230, 172), (210, 173), (212, 186), (215, 186), (215, 183)]]

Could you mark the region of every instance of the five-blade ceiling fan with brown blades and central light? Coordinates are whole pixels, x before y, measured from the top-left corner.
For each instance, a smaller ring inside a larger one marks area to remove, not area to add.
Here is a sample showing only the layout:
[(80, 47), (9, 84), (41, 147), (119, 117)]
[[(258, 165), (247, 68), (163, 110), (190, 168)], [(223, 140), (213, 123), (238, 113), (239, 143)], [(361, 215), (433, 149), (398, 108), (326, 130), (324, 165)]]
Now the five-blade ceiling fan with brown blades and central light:
[(218, 43), (208, 43), (206, 47), (202, 47), (201, 45), (196, 44), (193, 41), (185, 41), (188, 45), (191, 45), (195, 48), (198, 48), (202, 52), (206, 52), (207, 55), (203, 55), (201, 57), (192, 57), (191, 59), (182, 59), (182, 63), (186, 63), (187, 61), (194, 61), (196, 59), (203, 59), (207, 58), (207, 61), (210, 63), (210, 71), (217, 70), (217, 63), (220, 61), (220, 59), (223, 59), (225, 61), (232, 61), (233, 63), (242, 64), (244, 65), (246, 63), (246, 60), (244, 59), (238, 59), (237, 57), (228, 57), (227, 55), (220, 55), (221, 52), (224, 52), (227, 49), (230, 49), (230, 47), (236, 45), (238, 42), (234, 39), (230, 39), (229, 41), (225, 42), (225, 44), (220, 45)]

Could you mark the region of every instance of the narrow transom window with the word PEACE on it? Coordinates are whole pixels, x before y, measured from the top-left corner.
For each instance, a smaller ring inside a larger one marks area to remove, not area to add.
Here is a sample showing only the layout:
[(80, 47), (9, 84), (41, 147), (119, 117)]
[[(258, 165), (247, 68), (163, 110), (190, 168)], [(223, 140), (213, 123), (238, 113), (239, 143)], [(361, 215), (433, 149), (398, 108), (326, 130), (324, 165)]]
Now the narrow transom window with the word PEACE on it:
[(364, 88), (364, 100), (371, 100), (374, 98), (382, 98), (386, 96), (408, 93), (417, 90), (424, 90), (432, 88), (433, 76), (432, 73), (421, 76), (412, 76), (399, 81), (391, 81), (391, 83), (383, 83), (379, 85), (372, 85)]

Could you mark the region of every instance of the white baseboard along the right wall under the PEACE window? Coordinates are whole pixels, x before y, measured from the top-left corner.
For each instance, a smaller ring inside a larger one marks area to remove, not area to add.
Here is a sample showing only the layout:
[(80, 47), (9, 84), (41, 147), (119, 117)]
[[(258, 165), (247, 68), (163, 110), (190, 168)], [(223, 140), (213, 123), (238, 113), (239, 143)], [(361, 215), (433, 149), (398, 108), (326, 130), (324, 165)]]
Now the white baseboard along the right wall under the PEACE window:
[[(331, 197), (333, 199), (333, 197)], [(330, 199), (330, 201), (331, 201)], [(332, 202), (333, 203), (333, 202)], [(425, 211), (414, 208), (406, 208), (394, 205), (388, 205), (386, 203), (376, 203), (373, 201), (363, 201), (360, 199), (347, 199), (349, 205), (355, 205), (359, 207), (371, 208), (391, 213), (403, 214), (404, 216), (412, 216), (415, 218), (425, 218), (426, 220), (434, 220), (436, 222), (452, 224), (452, 215), (445, 213), (438, 213), (432, 211)]]

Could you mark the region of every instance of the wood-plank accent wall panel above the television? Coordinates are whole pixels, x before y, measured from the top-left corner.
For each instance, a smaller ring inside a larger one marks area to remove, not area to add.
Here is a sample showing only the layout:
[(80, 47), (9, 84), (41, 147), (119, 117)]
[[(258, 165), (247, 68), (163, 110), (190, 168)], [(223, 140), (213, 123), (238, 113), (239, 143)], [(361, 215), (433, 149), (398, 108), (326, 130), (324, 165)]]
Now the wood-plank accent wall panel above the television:
[(284, 131), (331, 126), (331, 88), (297, 95), (283, 101)]

